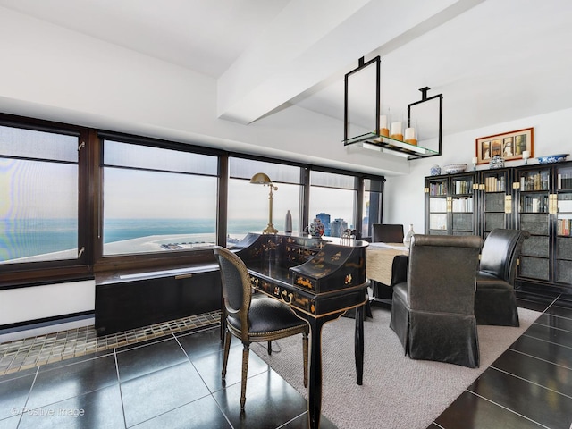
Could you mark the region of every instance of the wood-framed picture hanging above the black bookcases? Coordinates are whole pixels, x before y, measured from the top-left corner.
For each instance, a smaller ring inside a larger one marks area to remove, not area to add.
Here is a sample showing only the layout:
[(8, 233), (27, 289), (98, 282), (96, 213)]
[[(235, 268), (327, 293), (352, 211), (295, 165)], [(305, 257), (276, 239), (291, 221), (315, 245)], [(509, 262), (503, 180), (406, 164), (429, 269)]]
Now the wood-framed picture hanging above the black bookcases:
[(505, 161), (522, 159), (522, 153), (525, 150), (532, 158), (534, 156), (534, 129), (526, 128), (481, 137), (476, 139), (475, 150), (477, 164), (487, 164), (495, 155), (501, 156)]

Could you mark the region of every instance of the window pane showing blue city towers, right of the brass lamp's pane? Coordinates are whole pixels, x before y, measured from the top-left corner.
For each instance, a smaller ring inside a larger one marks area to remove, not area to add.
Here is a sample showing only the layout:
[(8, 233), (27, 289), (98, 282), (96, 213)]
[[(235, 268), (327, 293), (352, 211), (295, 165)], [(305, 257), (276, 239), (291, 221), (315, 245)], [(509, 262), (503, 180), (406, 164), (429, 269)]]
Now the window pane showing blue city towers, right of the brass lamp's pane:
[(332, 172), (310, 172), (310, 222), (324, 223), (324, 235), (341, 237), (346, 229), (356, 228), (356, 176)]

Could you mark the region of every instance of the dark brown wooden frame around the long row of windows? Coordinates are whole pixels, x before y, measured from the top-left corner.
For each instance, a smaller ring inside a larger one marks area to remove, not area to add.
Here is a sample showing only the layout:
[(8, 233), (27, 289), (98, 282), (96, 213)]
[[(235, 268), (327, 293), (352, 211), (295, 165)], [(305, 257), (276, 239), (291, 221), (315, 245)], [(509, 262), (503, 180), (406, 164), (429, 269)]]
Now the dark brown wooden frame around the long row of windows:
[[(364, 198), (364, 179), (382, 180), (380, 175), (340, 170), (314, 164), (299, 163), (288, 159), (267, 156), (252, 156), (240, 152), (230, 152), (211, 147), (202, 147), (181, 141), (135, 136), (110, 130), (98, 130), (62, 122), (46, 121), (13, 114), (0, 114), (0, 123), (6, 126), (47, 132), (63, 132), (80, 136), (78, 156), (78, 248), (84, 248), (77, 259), (29, 262), (0, 265), (0, 290), (44, 285), (57, 282), (92, 280), (97, 274), (137, 272), (156, 267), (177, 267), (189, 265), (213, 265), (215, 263), (211, 248), (193, 248), (169, 252), (142, 253), (131, 255), (103, 256), (103, 238), (99, 231), (103, 228), (103, 140), (114, 139), (126, 143), (150, 147), (195, 152), (202, 155), (217, 156), (217, 198), (216, 240), (217, 244), (226, 242), (229, 158), (239, 157), (272, 164), (287, 164), (300, 169), (300, 214), (299, 228), (308, 224), (310, 172), (332, 172), (354, 176), (358, 181), (356, 225), (361, 231), (362, 204)], [(383, 193), (382, 193), (383, 195)], [(380, 213), (380, 219), (383, 212)], [(302, 231), (298, 231), (302, 233)], [(294, 231), (296, 233), (296, 231)], [(222, 243), (222, 244), (221, 244)]]

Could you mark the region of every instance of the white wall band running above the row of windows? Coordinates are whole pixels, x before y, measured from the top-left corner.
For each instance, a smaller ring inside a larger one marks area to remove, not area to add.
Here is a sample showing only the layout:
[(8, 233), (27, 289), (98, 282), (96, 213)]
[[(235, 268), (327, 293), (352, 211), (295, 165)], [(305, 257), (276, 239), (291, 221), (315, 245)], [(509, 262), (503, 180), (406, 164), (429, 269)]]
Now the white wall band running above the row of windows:
[(365, 172), (402, 158), (343, 147), (343, 123), (288, 106), (241, 125), (218, 119), (216, 81), (0, 7), (0, 112)]

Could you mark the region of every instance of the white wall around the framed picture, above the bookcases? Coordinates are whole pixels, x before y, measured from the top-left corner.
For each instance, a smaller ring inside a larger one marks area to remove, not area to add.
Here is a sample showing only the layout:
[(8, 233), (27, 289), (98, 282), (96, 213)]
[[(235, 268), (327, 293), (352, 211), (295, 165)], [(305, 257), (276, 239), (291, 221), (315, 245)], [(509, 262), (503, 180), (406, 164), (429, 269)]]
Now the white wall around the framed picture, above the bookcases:
[[(445, 106), (443, 106), (443, 110)], [(572, 109), (561, 110), (517, 121), (500, 123), (491, 127), (444, 136), (442, 156), (410, 161), (411, 170), (405, 176), (388, 177), (385, 183), (384, 223), (413, 223), (417, 233), (425, 232), (424, 178), (429, 175), (433, 164), (441, 167), (447, 164), (467, 164), (475, 156), (475, 139), (534, 127), (534, 156), (572, 154), (572, 139), (568, 136), (568, 124), (572, 122)], [(568, 157), (572, 159), (572, 157)], [(537, 164), (530, 159), (528, 164)], [(507, 162), (507, 166), (524, 164), (523, 160)], [(477, 165), (477, 170), (488, 169), (488, 165)]]

